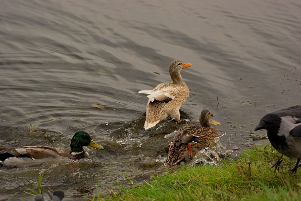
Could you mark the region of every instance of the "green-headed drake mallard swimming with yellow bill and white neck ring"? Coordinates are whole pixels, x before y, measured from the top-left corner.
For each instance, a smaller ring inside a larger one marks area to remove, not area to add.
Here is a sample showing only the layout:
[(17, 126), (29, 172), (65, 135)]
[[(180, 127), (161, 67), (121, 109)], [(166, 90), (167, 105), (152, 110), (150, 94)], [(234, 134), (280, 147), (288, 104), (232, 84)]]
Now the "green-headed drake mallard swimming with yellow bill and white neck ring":
[(25, 146), (19, 148), (0, 147), (6, 153), (0, 154), (0, 161), (8, 166), (28, 166), (41, 164), (53, 158), (66, 157), (70, 159), (81, 159), (85, 157), (83, 146), (91, 146), (103, 149), (95, 143), (91, 136), (84, 131), (79, 131), (71, 139), (71, 151), (58, 152), (54, 147), (49, 146)]

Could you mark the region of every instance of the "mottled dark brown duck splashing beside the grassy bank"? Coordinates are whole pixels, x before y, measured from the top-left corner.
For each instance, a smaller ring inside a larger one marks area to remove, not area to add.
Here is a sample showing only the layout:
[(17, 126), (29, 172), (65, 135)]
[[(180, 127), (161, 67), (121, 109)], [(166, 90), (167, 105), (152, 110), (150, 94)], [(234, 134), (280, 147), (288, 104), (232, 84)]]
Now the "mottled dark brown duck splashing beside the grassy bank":
[(208, 110), (201, 111), (200, 123), (197, 125), (186, 125), (174, 136), (169, 145), (167, 160), (164, 166), (175, 165), (181, 161), (189, 161), (200, 150), (208, 147), (221, 133), (210, 125), (210, 118), (214, 117)]

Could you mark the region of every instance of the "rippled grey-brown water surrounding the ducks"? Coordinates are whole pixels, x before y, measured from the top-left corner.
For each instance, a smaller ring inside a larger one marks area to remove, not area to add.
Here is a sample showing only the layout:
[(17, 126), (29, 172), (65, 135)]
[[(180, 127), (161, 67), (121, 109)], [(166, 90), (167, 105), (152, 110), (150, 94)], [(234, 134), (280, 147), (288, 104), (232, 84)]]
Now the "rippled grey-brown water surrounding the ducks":
[(45, 188), (82, 200), (98, 179), (106, 194), (113, 180), (128, 185), (125, 174), (164, 172), (164, 136), (181, 125), (144, 131), (147, 97), (138, 91), (170, 81), (174, 59), (193, 64), (181, 73), (190, 88), (183, 118), (198, 124), (202, 109), (212, 111), (228, 150), (266, 143), (251, 133), (260, 118), (301, 104), (300, 10), (298, 0), (1, 1), (0, 145), (67, 150), (84, 130), (105, 149), (1, 167), (0, 200), (26, 197), (41, 172)]

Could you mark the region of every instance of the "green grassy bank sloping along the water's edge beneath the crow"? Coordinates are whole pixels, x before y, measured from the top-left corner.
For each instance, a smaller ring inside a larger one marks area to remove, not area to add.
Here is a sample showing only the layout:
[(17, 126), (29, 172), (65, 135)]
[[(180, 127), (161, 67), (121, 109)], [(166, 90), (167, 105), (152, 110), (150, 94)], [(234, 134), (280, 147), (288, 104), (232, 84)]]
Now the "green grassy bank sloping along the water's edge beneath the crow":
[[(270, 144), (246, 150), (235, 161), (218, 166), (199, 165), (170, 169), (138, 187), (122, 188), (122, 194), (106, 201), (301, 201), (301, 168), (288, 158), (279, 172), (272, 164), (280, 157)], [(134, 181), (135, 183), (135, 181)]]

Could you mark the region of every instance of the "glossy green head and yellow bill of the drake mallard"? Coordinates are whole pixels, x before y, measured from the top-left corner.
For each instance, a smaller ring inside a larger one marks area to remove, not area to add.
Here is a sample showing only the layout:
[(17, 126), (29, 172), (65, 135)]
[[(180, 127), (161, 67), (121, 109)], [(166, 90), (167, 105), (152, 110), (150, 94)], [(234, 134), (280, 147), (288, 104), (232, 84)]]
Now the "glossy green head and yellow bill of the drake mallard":
[(81, 153), (84, 151), (84, 149), (83, 149), (84, 146), (91, 146), (96, 149), (103, 149), (103, 147), (101, 145), (97, 144), (96, 142), (94, 142), (92, 140), (91, 136), (87, 132), (79, 131), (79, 132), (75, 133), (71, 139), (71, 144), (70, 144), (71, 152), (70, 153), (72, 153), (72, 152)]

